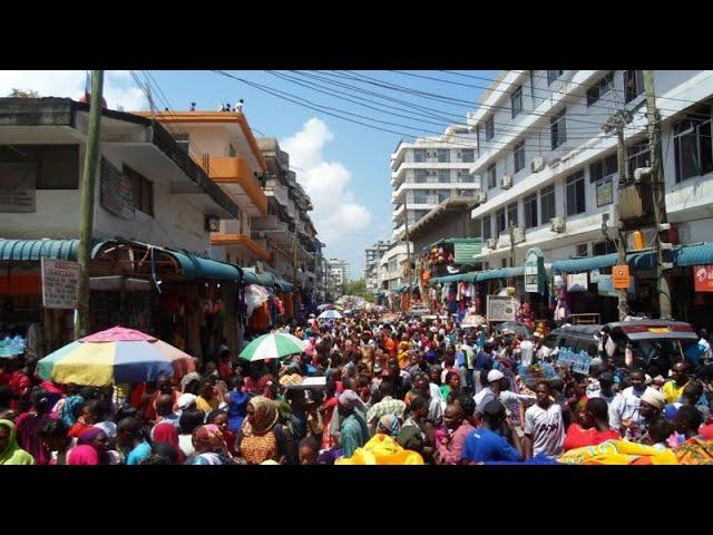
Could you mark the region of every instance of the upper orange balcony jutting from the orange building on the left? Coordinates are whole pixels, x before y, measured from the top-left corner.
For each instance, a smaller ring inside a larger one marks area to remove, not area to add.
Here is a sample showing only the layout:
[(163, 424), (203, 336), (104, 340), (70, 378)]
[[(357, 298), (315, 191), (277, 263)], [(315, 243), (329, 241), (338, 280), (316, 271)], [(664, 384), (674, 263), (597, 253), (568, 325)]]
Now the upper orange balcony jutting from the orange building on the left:
[(237, 156), (205, 158), (211, 178), (231, 196), (250, 206), (251, 216), (267, 215), (267, 197), (245, 158)]

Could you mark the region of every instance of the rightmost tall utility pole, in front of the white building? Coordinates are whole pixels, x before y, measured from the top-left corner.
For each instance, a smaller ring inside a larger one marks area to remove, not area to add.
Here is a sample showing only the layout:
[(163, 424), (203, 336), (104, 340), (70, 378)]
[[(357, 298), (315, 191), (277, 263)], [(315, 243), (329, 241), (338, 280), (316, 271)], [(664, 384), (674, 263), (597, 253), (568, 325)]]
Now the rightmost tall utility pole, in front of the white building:
[(654, 221), (656, 224), (656, 279), (658, 280), (658, 314), (671, 318), (671, 290), (664, 270), (672, 268), (670, 259), (664, 253), (671, 251), (666, 215), (666, 183), (664, 181), (663, 150), (661, 148), (661, 114), (656, 108), (656, 93), (654, 90), (654, 71), (644, 70), (644, 91), (646, 93), (646, 123), (648, 125), (648, 146), (651, 149), (651, 184), (654, 204)]

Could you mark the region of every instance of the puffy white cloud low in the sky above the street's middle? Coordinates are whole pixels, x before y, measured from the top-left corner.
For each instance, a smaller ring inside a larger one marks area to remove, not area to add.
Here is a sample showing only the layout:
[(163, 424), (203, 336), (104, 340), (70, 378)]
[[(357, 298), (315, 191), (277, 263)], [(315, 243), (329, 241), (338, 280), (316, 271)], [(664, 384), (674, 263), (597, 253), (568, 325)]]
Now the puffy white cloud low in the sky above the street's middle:
[(360, 204), (349, 188), (350, 171), (340, 162), (324, 160), (324, 147), (333, 139), (334, 134), (324, 121), (311, 118), (300, 132), (280, 142), (290, 154), (290, 166), (295, 168), (297, 182), (312, 200), (312, 218), (320, 240), (328, 247), (331, 241), (353, 243), (350, 237), (356, 237), (372, 220), (369, 208)]

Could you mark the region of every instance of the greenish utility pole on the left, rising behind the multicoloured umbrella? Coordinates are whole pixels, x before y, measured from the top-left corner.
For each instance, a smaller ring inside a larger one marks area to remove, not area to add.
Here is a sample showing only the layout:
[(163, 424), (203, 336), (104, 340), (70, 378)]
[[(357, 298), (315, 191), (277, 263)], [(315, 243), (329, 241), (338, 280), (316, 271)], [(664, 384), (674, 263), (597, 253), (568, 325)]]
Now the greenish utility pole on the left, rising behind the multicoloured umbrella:
[(81, 174), (80, 234), (77, 261), (79, 263), (79, 299), (75, 339), (87, 334), (89, 328), (89, 261), (94, 235), (94, 195), (99, 159), (99, 138), (101, 126), (101, 90), (104, 70), (91, 72), (91, 97), (89, 104), (89, 129), (87, 132), (87, 152)]

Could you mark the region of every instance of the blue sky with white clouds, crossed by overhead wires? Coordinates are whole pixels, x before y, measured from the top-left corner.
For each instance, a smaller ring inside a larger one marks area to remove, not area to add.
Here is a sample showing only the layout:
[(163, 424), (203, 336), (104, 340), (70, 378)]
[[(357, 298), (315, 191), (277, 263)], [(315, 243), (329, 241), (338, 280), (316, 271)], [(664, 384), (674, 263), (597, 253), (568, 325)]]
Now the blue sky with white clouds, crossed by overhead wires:
[[(152, 84), (160, 109), (185, 110), (196, 103), (196, 109), (215, 110), (221, 103), (242, 98), (255, 136), (276, 137), (290, 154), (290, 165), (312, 198), (311, 216), (318, 237), (326, 244), (324, 254), (350, 262), (351, 279), (361, 275), (364, 247), (391, 237), (390, 156), (399, 142), (438, 135), (448, 119), (465, 121), (466, 113), (476, 108), (496, 75), (475, 70), (224, 72), (232, 77), (209, 70), (106, 71), (104, 96), (113, 109), (148, 109), (134, 74), (139, 81)], [(42, 97), (78, 99), (85, 81), (84, 70), (6, 70), (0, 71), (0, 95), (17, 88), (36, 90)], [(383, 87), (389, 84), (401, 87)]]

